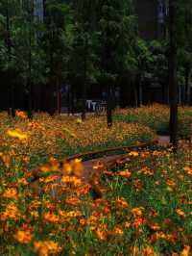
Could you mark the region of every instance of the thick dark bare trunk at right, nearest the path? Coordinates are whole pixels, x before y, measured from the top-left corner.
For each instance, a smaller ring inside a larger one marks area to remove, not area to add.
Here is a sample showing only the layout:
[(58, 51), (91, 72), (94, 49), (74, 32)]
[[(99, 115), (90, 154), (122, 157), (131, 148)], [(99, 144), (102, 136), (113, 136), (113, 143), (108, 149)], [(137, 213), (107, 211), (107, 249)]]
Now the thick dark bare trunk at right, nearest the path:
[(178, 147), (178, 84), (176, 44), (176, 1), (169, 0), (169, 87), (170, 87), (170, 137), (175, 150)]

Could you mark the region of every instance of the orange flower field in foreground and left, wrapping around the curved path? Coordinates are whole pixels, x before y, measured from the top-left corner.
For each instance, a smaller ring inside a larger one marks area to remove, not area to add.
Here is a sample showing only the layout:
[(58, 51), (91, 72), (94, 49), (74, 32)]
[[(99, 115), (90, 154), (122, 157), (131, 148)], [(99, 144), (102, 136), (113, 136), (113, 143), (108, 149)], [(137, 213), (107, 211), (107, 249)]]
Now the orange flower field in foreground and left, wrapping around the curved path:
[[(156, 136), (143, 124), (106, 126), (103, 117), (0, 114), (0, 255), (191, 255), (191, 143), (180, 141), (177, 155), (154, 146), (109, 169), (95, 163), (89, 184), (81, 160), (60, 160)], [(32, 168), (42, 173), (37, 190)]]

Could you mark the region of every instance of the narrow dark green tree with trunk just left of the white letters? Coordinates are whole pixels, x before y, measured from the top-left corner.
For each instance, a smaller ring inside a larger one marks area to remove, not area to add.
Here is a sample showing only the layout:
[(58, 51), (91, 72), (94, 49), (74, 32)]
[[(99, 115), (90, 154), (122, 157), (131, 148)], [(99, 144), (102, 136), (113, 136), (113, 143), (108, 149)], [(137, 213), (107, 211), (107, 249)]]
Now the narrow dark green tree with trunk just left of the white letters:
[(76, 78), (79, 77), (82, 88), (82, 118), (86, 113), (87, 88), (94, 76), (95, 7), (96, 1), (79, 0), (74, 4), (74, 40), (71, 61), (76, 67)]

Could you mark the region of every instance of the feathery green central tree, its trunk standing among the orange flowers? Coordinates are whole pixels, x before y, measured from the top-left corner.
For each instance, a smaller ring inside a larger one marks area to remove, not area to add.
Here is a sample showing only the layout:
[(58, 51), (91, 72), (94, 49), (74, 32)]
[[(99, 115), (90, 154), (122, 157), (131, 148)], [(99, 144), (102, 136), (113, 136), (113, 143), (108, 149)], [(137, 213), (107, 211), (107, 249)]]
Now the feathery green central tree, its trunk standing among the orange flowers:
[(132, 0), (98, 1), (101, 44), (101, 75), (108, 94), (108, 127), (112, 126), (113, 89), (132, 42)]

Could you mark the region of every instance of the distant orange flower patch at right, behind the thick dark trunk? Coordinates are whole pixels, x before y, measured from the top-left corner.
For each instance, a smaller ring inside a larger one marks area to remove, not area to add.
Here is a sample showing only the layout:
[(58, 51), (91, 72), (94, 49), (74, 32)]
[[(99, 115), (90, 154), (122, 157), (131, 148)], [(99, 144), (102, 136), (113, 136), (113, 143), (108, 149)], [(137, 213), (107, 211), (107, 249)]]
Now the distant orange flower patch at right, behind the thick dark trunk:
[[(170, 110), (166, 105), (154, 104), (141, 108), (117, 110), (114, 119), (127, 123), (140, 123), (159, 135), (169, 134)], [(179, 136), (188, 139), (192, 135), (192, 107), (179, 108)]]

